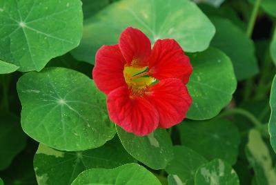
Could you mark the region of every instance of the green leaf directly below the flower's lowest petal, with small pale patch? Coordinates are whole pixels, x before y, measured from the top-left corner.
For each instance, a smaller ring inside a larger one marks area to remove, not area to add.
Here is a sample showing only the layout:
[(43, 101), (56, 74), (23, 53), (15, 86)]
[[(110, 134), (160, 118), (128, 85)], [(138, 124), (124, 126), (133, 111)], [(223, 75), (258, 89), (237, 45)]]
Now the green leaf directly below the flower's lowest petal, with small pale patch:
[(172, 141), (165, 129), (140, 137), (117, 128), (121, 144), (132, 157), (152, 169), (164, 169), (173, 158)]

